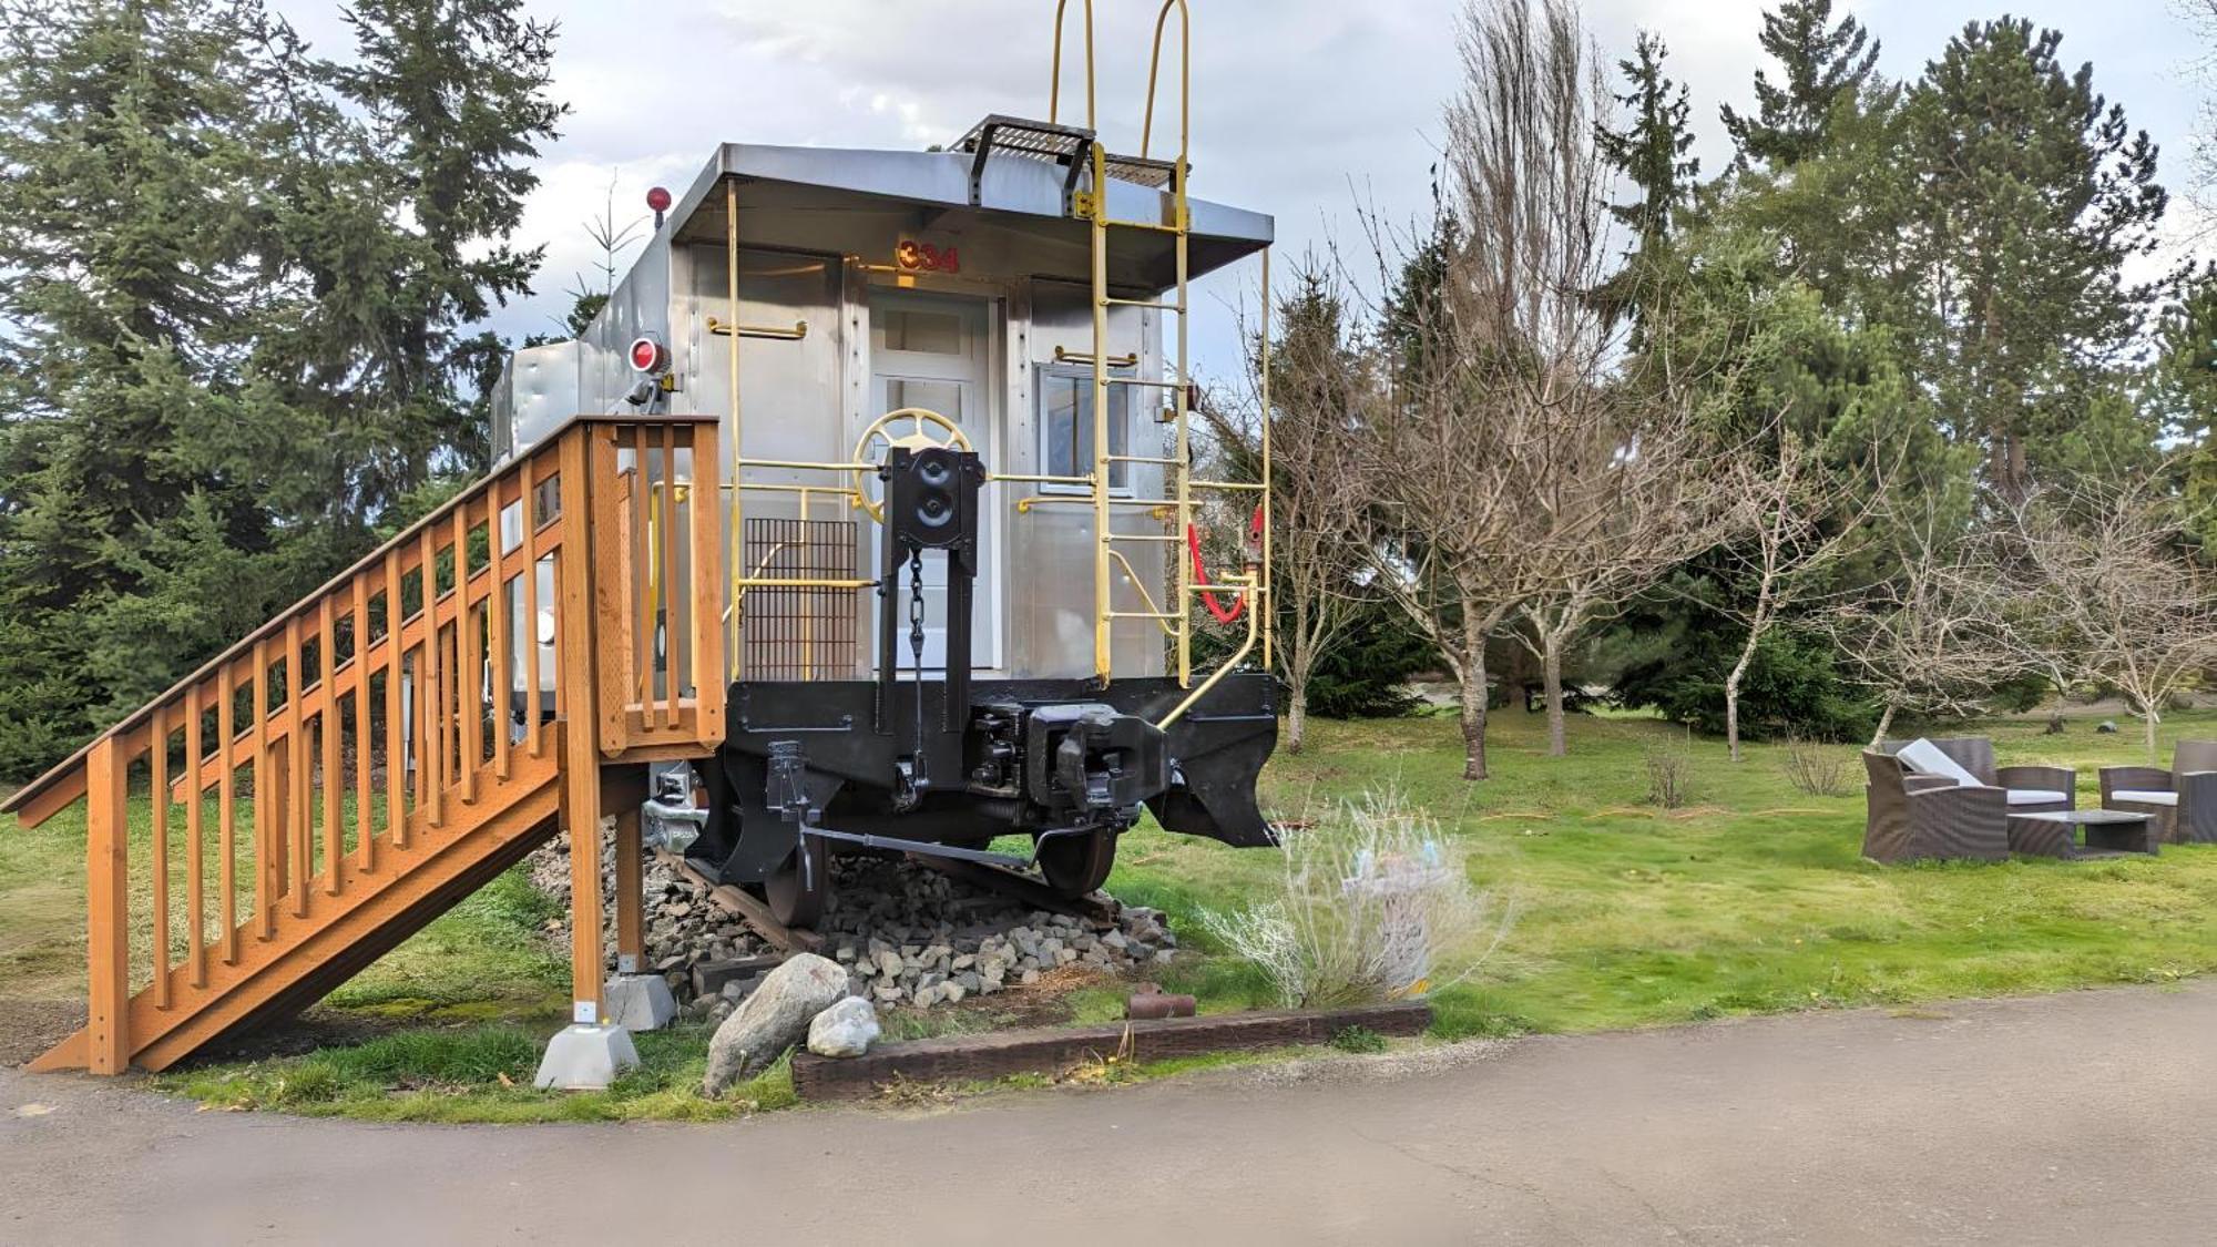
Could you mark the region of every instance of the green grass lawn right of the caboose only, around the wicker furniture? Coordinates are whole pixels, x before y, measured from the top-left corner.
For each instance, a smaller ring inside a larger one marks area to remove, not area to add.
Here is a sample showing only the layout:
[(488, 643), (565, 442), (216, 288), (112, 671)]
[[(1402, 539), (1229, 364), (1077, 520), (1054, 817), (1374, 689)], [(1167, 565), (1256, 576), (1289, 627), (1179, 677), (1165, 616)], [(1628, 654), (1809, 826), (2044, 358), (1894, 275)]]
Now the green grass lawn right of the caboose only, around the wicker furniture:
[[(1273, 810), (1326, 812), (1366, 788), (1399, 785), (1470, 848), (1477, 881), (1514, 905), (1516, 925), (1483, 972), (1439, 994), (1445, 1036), (1583, 1032), (1729, 1014), (1907, 1005), (1949, 996), (2093, 983), (2164, 983), (2217, 967), (2217, 850), (2166, 845), (2159, 859), (2004, 865), (1862, 861), (1862, 763), (1849, 794), (1811, 797), (1785, 774), (1787, 750), (1754, 746), (1731, 763), (1716, 741), (1680, 743), (1649, 719), (1574, 719), (1570, 757), (1545, 757), (1543, 723), (1496, 717), (1494, 779), (1465, 783), (1452, 719), (1317, 723), (1299, 757), (1266, 777)], [(2080, 770), (2142, 761), (2137, 734), (2097, 737), (2073, 721), (1980, 728), (2004, 763)], [(2217, 732), (2208, 714), (2166, 723)], [(1692, 805), (1647, 799), (1645, 752), (1685, 748)], [(1266, 854), (1142, 832), (1126, 841), (1117, 896), (1173, 914), (1224, 908), (1266, 883)], [(1224, 965), (1191, 974), (1219, 1005), (1264, 1003), (1264, 985)]]

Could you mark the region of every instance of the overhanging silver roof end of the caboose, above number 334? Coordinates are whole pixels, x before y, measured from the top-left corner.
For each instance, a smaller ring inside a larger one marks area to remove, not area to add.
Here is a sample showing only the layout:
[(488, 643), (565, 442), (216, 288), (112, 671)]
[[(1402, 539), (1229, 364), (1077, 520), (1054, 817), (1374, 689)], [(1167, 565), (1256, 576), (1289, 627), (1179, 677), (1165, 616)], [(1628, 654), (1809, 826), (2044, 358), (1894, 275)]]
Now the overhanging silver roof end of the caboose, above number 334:
[[(1026, 246), (1033, 277), (1086, 280), (1091, 229), (1062, 211), (1064, 169), (1020, 153), (993, 153), (978, 178), (971, 204), (973, 155), (967, 151), (867, 151), (831, 146), (769, 146), (727, 142), (716, 149), (692, 186), (672, 206), (672, 240), (721, 244), (725, 237), (727, 178), (738, 182), (740, 240), (747, 246), (829, 251), (827, 213), (913, 211), (918, 229), (958, 229), (975, 222), (1038, 242)], [(1108, 215), (1153, 222), (1164, 215), (1164, 193), (1108, 180)], [(1195, 277), (1270, 244), (1264, 213), (1188, 197), (1193, 231), (1188, 264)], [(1168, 233), (1117, 231), (1111, 246), (1111, 284), (1164, 291), (1177, 280)]]

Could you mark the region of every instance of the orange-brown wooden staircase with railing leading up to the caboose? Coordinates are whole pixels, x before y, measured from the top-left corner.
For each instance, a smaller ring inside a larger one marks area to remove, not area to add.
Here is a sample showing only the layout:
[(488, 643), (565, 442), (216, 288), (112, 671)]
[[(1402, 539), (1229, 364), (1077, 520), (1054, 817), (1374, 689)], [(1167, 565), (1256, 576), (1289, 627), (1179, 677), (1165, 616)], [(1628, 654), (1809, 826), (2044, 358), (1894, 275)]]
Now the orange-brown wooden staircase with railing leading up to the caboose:
[(723, 741), (718, 495), (714, 417), (579, 417), (16, 792), (86, 801), (89, 1018), (31, 1067), (290, 1014), (556, 830), (599, 1021), (599, 817), (636, 863), (643, 763)]

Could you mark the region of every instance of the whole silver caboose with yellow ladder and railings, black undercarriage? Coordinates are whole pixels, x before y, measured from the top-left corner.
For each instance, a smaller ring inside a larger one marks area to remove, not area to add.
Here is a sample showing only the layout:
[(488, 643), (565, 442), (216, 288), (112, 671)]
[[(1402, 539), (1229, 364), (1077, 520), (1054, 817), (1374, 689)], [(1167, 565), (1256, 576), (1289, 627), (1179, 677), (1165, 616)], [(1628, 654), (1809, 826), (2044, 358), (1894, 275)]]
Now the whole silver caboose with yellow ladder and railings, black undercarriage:
[[(1060, 122), (1060, 60), (1058, 31), (1049, 120), (949, 151), (723, 144), (650, 197), (592, 326), (519, 351), (494, 399), (503, 457), (574, 413), (721, 413), (727, 732), (692, 763), (687, 854), (787, 923), (836, 852), (1084, 894), (1142, 810), (1270, 843), (1268, 430), (1261, 479), (1195, 468), (1186, 311), (1250, 255), (1268, 306), (1273, 222), (1186, 193), (1184, 100), (1148, 155), (1153, 82), (1140, 155), (1106, 151), (1091, 31), (1086, 124)], [(1204, 510), (1239, 515), (1233, 566)], [(1204, 612), (1233, 637), (1213, 666)], [(984, 848), (1004, 834), (1031, 852)]]

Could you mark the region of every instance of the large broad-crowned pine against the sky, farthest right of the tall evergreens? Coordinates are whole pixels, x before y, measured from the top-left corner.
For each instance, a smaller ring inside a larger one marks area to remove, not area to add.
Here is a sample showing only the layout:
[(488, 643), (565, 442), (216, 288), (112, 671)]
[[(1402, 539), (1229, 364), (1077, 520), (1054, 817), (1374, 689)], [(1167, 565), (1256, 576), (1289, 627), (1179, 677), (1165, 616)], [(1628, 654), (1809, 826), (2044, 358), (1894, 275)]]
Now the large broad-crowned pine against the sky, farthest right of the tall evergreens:
[(2060, 42), (2029, 20), (1973, 22), (1909, 98), (1915, 271), (1938, 317), (1922, 371), (2004, 497), (2088, 419), (2137, 424), (2093, 397), (2157, 293), (2124, 280), (2157, 244), (2155, 144), (2095, 93), (2091, 64), (2062, 67)]

